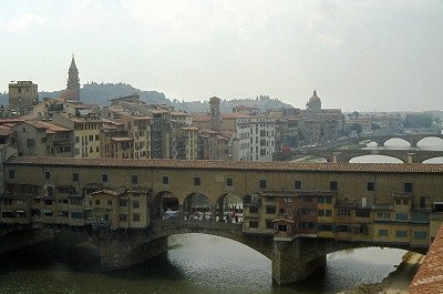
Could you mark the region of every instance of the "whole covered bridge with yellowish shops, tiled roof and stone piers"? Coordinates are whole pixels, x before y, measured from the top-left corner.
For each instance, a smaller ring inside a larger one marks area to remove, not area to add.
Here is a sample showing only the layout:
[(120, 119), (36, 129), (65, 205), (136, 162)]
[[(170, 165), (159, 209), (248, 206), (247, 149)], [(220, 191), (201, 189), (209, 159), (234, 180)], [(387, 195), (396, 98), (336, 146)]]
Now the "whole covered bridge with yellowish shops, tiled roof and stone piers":
[(13, 158), (3, 170), (2, 226), (84, 232), (104, 271), (204, 233), (260, 252), (286, 284), (344, 249), (425, 252), (443, 212), (443, 164)]

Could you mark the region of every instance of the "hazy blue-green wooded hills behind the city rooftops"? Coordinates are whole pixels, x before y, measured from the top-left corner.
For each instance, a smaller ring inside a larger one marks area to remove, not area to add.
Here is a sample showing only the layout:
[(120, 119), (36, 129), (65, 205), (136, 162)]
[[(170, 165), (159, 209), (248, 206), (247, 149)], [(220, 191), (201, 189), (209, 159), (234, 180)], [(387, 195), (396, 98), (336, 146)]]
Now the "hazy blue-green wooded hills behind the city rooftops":
[[(40, 92), (40, 100), (42, 98), (58, 98), (62, 91), (54, 92)], [(91, 82), (83, 84), (80, 89), (80, 98), (83, 103), (107, 105), (110, 99), (121, 98), (125, 95), (138, 94), (140, 98), (150, 104), (165, 104), (174, 107), (174, 109), (186, 111), (186, 112), (208, 112), (208, 101), (210, 97), (207, 97), (204, 101), (179, 101), (178, 99), (169, 100), (162, 92), (157, 91), (145, 91), (135, 89), (127, 83), (97, 83)], [(220, 98), (223, 99), (223, 98)], [(0, 104), (8, 104), (8, 93), (0, 93)], [(222, 100), (220, 111), (230, 112), (234, 107), (245, 105), (249, 108), (256, 108), (259, 111), (266, 111), (268, 109), (281, 109), (291, 108), (290, 104), (284, 103), (278, 99), (271, 99), (268, 95), (258, 95), (254, 99), (234, 99), (234, 100)]]

